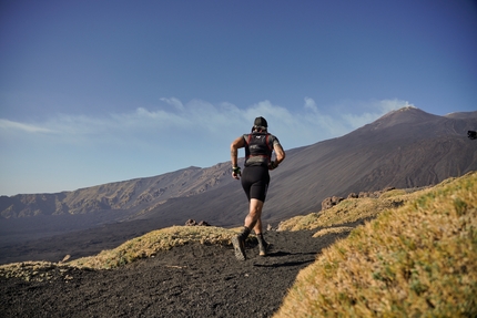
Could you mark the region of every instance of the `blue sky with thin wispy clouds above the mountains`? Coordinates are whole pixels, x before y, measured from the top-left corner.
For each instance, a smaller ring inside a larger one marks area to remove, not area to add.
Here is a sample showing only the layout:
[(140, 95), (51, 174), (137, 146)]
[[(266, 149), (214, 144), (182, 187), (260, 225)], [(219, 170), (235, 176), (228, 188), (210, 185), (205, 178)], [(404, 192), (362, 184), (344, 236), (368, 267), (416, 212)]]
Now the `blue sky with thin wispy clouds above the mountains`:
[(476, 57), (470, 0), (3, 0), (0, 195), (209, 167), (258, 115), (287, 150), (475, 111)]

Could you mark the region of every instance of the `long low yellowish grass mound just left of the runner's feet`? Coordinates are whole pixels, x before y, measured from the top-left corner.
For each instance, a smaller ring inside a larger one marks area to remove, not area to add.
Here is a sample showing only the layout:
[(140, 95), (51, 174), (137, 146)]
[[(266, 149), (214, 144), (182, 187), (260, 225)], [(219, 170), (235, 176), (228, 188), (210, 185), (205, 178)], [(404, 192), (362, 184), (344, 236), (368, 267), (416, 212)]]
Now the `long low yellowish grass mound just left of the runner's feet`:
[[(235, 230), (214, 226), (172, 226), (150, 232), (130, 239), (119, 247), (103, 250), (97, 256), (83, 257), (69, 263), (71, 266), (112, 269), (159, 252), (191, 243), (231, 245)], [(254, 239), (251, 237), (250, 239)]]

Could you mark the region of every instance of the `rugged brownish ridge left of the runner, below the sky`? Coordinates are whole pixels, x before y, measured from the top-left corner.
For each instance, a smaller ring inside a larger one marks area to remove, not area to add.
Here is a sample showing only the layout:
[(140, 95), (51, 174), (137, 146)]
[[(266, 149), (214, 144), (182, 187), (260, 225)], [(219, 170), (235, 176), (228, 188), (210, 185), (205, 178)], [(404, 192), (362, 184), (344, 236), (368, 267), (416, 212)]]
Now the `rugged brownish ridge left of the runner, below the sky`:
[[(84, 214), (101, 211), (140, 211), (152, 201), (200, 194), (217, 185), (224, 163), (209, 168), (186, 167), (152, 177), (79, 188), (53, 194), (18, 194), (0, 197), (3, 218), (35, 215)], [(189, 182), (193, 179), (193, 182)]]

